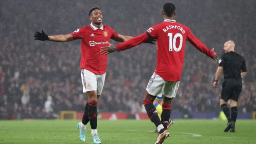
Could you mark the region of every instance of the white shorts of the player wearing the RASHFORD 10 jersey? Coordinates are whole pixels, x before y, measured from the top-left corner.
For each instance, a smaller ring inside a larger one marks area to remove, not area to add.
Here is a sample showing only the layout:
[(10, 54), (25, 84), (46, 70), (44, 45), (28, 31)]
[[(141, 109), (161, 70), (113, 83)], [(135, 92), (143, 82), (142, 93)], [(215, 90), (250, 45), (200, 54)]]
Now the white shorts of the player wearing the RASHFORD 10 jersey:
[(164, 94), (167, 98), (175, 98), (179, 85), (180, 81), (168, 82), (154, 72), (148, 82), (146, 90), (152, 96), (160, 97)]

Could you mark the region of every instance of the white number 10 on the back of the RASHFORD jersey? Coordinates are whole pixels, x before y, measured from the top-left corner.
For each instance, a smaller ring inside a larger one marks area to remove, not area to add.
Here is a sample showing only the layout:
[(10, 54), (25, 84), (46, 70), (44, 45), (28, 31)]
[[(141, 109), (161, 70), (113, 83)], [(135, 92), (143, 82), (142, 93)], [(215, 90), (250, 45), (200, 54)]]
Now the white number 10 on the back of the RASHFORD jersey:
[[(183, 36), (180, 33), (177, 33), (173, 36), (172, 33), (168, 33), (169, 36), (169, 51), (172, 52), (172, 50), (178, 52), (181, 50), (182, 47), (182, 42), (183, 42)], [(178, 48), (176, 47), (176, 39), (180, 38), (180, 44), (178, 46)]]

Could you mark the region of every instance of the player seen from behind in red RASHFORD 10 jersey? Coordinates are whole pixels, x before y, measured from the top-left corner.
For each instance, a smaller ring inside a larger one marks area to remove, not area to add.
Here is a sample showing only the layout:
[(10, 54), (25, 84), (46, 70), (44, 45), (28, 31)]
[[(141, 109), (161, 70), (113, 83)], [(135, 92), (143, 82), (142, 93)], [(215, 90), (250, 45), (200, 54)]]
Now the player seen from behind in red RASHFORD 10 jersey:
[[(164, 22), (152, 26), (147, 32), (116, 46), (109, 44), (108, 46), (102, 47), (101, 50), (102, 54), (105, 55), (116, 50), (120, 52), (137, 46), (146, 40), (156, 38), (157, 66), (148, 82), (143, 100), (148, 117), (158, 129), (158, 138), (155, 144), (162, 144), (164, 139), (170, 136), (166, 128), (170, 119), (171, 101), (176, 96), (180, 84), (186, 40), (207, 56), (215, 61), (218, 60), (218, 54), (213, 51), (214, 48), (209, 50), (194, 36), (188, 27), (174, 20), (176, 15), (174, 4), (164, 4), (162, 15), (164, 16)], [(152, 103), (159, 94), (164, 94), (161, 120)]]

